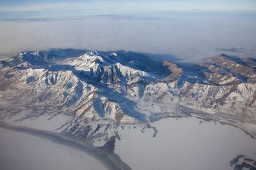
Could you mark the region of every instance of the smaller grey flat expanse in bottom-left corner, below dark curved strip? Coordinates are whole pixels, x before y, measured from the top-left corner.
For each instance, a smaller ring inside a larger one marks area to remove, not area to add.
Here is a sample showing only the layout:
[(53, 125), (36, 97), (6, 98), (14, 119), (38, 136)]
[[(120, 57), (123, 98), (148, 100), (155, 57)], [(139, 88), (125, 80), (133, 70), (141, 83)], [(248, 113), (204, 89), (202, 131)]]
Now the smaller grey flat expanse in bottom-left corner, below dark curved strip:
[(108, 169), (96, 158), (66, 145), (0, 128), (0, 169)]

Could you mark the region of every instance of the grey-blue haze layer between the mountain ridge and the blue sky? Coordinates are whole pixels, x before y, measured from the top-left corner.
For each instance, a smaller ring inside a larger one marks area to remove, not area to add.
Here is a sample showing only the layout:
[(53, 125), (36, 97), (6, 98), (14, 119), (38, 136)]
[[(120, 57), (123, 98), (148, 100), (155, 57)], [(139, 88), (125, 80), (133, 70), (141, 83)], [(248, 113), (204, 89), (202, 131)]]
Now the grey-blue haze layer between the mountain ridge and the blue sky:
[(255, 30), (253, 11), (13, 18), (0, 22), (0, 58), (49, 48), (168, 54), (192, 62), (220, 53), (255, 58)]

